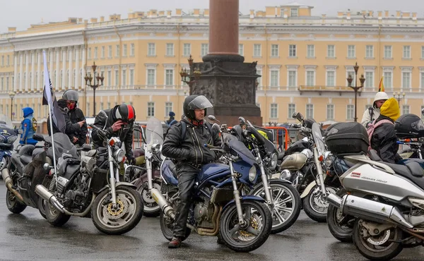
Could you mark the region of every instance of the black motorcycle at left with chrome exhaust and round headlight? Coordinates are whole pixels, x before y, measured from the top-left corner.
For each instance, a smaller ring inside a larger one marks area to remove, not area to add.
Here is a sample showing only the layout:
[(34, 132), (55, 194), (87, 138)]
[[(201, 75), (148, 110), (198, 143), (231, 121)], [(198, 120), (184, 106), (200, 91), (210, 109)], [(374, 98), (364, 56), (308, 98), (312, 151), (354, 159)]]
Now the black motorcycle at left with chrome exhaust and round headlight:
[[(102, 233), (120, 235), (139, 224), (143, 201), (136, 186), (119, 181), (119, 164), (125, 160), (122, 142), (116, 137), (107, 138), (105, 128), (90, 127), (98, 131), (105, 147), (90, 151), (91, 157), (80, 158), (69, 138), (59, 140), (73, 147), (61, 154), (48, 189), (37, 185), (35, 192), (48, 203), (46, 218), (53, 226), (64, 225), (71, 216), (91, 217)], [(45, 164), (45, 169), (52, 167)]]

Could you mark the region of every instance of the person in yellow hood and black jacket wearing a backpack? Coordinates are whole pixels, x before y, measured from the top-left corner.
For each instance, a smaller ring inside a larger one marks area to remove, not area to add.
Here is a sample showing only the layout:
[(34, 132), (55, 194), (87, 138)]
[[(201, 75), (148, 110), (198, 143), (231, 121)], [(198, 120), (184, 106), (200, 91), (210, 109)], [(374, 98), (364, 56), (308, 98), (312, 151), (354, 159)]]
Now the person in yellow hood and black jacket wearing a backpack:
[(383, 162), (396, 163), (401, 160), (397, 154), (399, 145), (396, 142), (394, 121), (401, 116), (399, 104), (394, 98), (387, 99), (380, 109), (379, 117), (367, 128), (370, 148), (377, 151)]

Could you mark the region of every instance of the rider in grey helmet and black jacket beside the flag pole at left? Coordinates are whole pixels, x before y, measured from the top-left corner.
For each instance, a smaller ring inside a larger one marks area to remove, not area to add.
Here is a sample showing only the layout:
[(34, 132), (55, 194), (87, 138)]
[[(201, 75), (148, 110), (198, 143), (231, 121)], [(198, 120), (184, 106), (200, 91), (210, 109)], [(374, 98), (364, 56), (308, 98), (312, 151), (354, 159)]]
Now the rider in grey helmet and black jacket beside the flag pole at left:
[(87, 123), (86, 116), (84, 116), (83, 111), (76, 107), (78, 103), (78, 92), (76, 90), (67, 90), (62, 95), (62, 99), (66, 99), (66, 106), (68, 107), (68, 115), (69, 119), (71, 120), (71, 123), (78, 123), (81, 121), (84, 121), (83, 126), (79, 128), (74, 133), (66, 133), (69, 136), (69, 139), (71, 142), (75, 145), (82, 146), (84, 143), (86, 143), (86, 137), (87, 137)]

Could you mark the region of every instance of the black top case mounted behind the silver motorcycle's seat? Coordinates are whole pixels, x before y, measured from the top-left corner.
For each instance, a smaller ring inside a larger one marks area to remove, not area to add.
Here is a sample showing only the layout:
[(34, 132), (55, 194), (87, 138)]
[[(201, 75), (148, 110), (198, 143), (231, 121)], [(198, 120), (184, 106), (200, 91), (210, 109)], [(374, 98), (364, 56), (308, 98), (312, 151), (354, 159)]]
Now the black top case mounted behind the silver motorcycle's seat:
[(326, 129), (326, 145), (336, 156), (367, 154), (370, 140), (367, 130), (357, 122), (334, 123)]

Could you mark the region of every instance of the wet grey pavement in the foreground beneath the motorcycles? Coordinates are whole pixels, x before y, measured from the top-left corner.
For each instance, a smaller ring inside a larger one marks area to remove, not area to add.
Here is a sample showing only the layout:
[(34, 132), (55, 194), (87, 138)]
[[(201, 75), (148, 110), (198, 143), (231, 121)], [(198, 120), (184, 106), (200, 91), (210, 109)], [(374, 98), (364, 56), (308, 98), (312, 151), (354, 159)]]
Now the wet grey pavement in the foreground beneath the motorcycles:
[[(366, 260), (351, 243), (339, 243), (326, 224), (303, 212), (287, 231), (271, 235), (252, 253), (235, 253), (216, 237), (194, 233), (182, 248), (167, 248), (158, 218), (143, 217), (124, 236), (100, 233), (91, 219), (71, 217), (63, 227), (50, 226), (38, 210), (11, 214), (0, 181), (0, 260)], [(424, 260), (424, 248), (404, 249), (394, 260)]]

